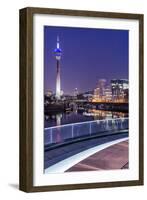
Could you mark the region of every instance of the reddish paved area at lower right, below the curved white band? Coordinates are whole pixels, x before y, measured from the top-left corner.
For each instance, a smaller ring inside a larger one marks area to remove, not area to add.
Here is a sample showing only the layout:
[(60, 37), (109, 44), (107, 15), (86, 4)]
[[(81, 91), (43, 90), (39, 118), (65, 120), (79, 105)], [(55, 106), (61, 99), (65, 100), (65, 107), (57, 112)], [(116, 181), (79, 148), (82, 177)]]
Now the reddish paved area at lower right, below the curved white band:
[(108, 147), (69, 168), (67, 172), (128, 169), (128, 140)]

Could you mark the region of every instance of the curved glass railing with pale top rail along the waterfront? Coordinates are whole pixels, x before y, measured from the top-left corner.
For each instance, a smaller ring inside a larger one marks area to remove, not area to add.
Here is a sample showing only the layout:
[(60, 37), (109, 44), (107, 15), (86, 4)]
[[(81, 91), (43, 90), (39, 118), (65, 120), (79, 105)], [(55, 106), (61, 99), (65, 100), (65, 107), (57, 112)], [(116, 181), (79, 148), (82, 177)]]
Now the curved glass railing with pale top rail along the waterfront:
[(63, 142), (91, 137), (95, 135), (105, 135), (127, 130), (129, 126), (128, 118), (94, 120), (72, 124), (65, 124), (44, 129), (44, 144), (52, 146)]

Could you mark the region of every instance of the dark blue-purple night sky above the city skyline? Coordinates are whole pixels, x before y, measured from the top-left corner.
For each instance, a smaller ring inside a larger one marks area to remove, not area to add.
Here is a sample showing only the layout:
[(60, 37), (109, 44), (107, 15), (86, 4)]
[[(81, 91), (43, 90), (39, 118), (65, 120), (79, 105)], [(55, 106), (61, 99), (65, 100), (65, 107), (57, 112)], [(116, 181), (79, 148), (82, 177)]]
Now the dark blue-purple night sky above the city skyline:
[(128, 31), (44, 27), (44, 88), (55, 92), (57, 35), (62, 49), (61, 89), (73, 94), (93, 90), (98, 79), (128, 79)]

